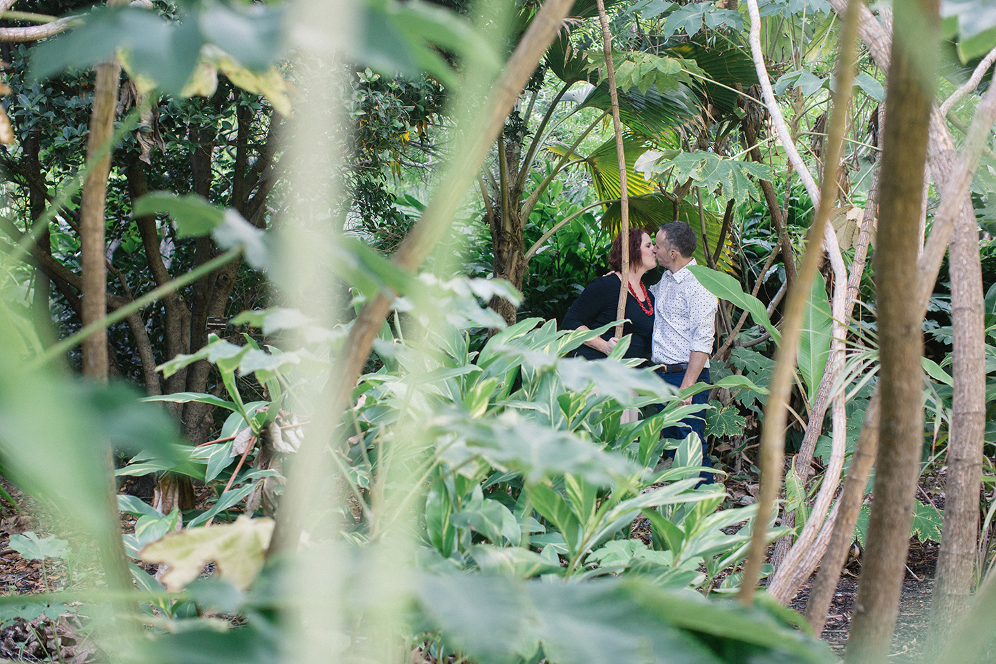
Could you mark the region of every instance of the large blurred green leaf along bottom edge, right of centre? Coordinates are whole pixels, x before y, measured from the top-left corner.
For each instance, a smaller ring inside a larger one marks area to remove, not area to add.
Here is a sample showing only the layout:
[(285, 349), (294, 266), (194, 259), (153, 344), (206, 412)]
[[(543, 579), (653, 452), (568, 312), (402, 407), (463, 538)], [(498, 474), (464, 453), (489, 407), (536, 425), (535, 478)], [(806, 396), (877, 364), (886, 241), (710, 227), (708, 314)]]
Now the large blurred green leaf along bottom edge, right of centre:
[[(426, 575), (416, 593), (430, 623), (482, 664), (533, 661), (541, 647), (557, 664), (834, 661), (825, 643), (776, 618), (776, 610), (668, 592), (644, 578)], [(727, 660), (727, 653), (736, 656)]]

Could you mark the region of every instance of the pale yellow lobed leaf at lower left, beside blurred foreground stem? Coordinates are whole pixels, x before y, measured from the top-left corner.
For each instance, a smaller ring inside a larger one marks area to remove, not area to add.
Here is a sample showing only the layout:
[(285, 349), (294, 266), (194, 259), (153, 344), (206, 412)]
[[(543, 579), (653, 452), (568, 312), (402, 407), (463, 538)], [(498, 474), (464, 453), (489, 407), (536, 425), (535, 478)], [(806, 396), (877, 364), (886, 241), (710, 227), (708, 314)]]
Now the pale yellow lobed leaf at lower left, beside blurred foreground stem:
[(183, 589), (211, 561), (215, 562), (220, 578), (245, 589), (263, 568), (273, 526), (272, 519), (241, 516), (234, 524), (167, 535), (145, 546), (138, 557), (145, 562), (169, 565), (161, 580), (173, 592)]

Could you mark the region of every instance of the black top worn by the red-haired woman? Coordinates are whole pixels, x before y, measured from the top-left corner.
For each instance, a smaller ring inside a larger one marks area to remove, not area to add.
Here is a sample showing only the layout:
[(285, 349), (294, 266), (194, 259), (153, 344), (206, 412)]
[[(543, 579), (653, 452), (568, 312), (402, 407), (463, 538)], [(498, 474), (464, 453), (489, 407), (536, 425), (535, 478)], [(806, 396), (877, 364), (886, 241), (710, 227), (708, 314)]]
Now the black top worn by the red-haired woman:
[[(581, 326), (595, 330), (616, 320), (616, 308), (620, 298), (620, 278), (616, 275), (606, 275), (599, 277), (588, 285), (578, 299), (571, 305), (564, 316), (564, 330), (577, 330)], [(625, 351), (626, 357), (643, 357), (650, 359), (650, 339), (653, 336), (653, 296), (647, 292), (647, 303), (650, 306), (651, 315), (647, 316), (639, 308), (639, 303), (632, 297), (631, 293), (626, 294), (625, 318), (631, 323), (622, 326), (623, 334), (632, 334), (629, 347)], [(646, 303), (643, 303), (646, 306)], [(602, 334), (602, 338), (609, 340), (616, 332), (615, 328)], [(596, 350), (590, 345), (581, 345), (575, 354), (588, 359), (602, 359), (605, 353)]]

